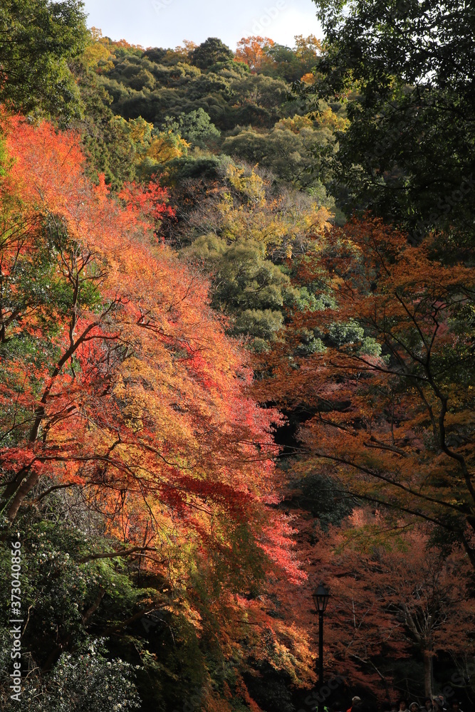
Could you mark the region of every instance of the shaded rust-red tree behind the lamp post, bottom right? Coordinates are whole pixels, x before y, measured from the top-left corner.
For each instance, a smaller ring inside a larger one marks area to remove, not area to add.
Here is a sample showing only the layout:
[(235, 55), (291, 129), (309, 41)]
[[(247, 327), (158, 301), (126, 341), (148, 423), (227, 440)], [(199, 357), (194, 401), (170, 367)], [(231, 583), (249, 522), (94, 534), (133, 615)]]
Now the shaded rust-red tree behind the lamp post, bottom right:
[(474, 649), (468, 557), (441, 551), (427, 525), (398, 531), (369, 508), (355, 508), (327, 531), (315, 530), (303, 513), (296, 526), (309, 580), (324, 580), (331, 592), (327, 675), (338, 670), (353, 684), (370, 685), (385, 707), (393, 701), (395, 663), (419, 656), (424, 692), (433, 696), (433, 661)]

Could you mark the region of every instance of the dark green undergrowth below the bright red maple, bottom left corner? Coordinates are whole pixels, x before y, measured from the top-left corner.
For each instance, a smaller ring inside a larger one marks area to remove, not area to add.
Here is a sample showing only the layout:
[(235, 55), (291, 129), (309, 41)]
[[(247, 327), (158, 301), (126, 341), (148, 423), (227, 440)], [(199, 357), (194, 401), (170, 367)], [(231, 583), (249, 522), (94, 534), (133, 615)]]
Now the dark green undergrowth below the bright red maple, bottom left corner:
[[(137, 560), (88, 560), (90, 553), (107, 553), (120, 543), (104, 539), (100, 515), (88, 509), (79, 489), (71, 496), (46, 497), (15, 526), (11, 531), (6, 520), (0, 521), (2, 709), (113, 712), (135, 708), (140, 699), (142, 712), (165, 712), (182, 708), (192, 694), (199, 709), (209, 673), (222, 670), (212, 627), (199, 639), (179, 606), (169, 612), (173, 598), (160, 592), (164, 582), (140, 580)], [(17, 540), (27, 617), (22, 669), (29, 664), (35, 671), (23, 683), (21, 706), (8, 706), (10, 542)], [(137, 616), (140, 611), (143, 616)]]

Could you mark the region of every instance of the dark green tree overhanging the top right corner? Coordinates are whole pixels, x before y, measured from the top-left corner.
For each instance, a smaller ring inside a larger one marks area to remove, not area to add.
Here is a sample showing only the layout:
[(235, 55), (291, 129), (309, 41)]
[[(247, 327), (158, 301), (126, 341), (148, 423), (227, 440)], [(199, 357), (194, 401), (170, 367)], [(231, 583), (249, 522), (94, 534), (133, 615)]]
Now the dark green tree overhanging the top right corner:
[(475, 11), (462, 0), (315, 0), (324, 74), (303, 93), (348, 100), (340, 183), (350, 204), (419, 239), (474, 238)]

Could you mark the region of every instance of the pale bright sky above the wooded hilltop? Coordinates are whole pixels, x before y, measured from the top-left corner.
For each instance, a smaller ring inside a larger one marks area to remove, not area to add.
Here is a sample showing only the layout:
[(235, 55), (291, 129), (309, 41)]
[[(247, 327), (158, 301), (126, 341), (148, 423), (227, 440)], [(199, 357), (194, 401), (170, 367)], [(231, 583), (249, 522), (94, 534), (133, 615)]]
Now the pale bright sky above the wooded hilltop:
[(219, 37), (232, 50), (250, 35), (293, 46), (295, 35), (321, 37), (311, 0), (84, 0), (88, 26), (113, 40), (175, 47)]

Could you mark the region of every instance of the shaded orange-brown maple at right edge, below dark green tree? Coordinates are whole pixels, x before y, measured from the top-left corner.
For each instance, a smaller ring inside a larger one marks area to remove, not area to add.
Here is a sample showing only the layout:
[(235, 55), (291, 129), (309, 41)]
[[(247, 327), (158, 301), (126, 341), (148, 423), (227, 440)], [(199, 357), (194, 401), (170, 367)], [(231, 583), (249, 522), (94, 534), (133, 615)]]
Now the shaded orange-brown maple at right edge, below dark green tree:
[[(432, 523), (473, 565), (475, 271), (435, 248), (370, 217), (330, 231), (300, 267), (320, 308), (293, 319), (260, 392), (311, 413), (307, 468)], [(309, 333), (319, 345), (302, 357)]]

